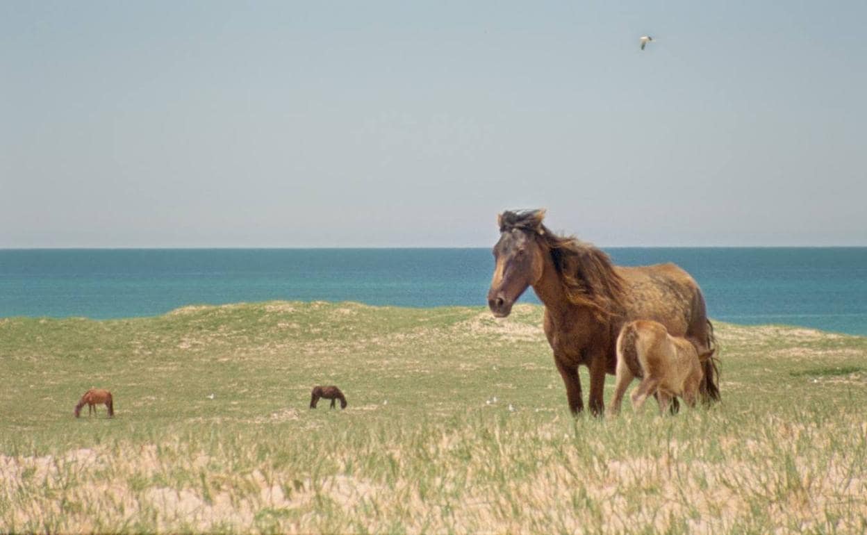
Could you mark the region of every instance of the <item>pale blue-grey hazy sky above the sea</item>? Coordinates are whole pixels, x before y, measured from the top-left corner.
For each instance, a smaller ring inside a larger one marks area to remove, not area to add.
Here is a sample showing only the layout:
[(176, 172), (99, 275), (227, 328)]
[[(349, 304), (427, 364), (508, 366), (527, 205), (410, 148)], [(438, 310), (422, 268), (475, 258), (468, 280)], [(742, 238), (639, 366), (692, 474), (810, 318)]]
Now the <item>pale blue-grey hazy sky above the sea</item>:
[(0, 0), (0, 248), (867, 245), (865, 20)]

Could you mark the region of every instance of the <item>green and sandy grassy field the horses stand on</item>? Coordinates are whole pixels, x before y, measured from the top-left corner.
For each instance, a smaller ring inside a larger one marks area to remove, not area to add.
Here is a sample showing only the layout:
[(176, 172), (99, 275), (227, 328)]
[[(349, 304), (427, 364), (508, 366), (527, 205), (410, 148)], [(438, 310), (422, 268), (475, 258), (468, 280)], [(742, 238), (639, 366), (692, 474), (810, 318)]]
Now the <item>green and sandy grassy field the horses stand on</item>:
[(717, 323), (721, 404), (574, 419), (541, 315), (0, 319), (0, 532), (867, 531), (867, 338)]

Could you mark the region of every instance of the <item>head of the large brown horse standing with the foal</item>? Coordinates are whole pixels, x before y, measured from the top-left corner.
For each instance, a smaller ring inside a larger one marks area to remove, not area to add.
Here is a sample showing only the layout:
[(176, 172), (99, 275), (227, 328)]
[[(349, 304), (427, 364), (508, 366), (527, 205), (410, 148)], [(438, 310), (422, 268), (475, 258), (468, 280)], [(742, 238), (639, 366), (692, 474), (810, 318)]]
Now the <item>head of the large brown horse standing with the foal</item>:
[(544, 249), (538, 240), (545, 232), (542, 219), (544, 210), (503, 212), (497, 218), (500, 234), (493, 246), (496, 264), (488, 290), (488, 307), (494, 316), (508, 316), (518, 297), (542, 277)]

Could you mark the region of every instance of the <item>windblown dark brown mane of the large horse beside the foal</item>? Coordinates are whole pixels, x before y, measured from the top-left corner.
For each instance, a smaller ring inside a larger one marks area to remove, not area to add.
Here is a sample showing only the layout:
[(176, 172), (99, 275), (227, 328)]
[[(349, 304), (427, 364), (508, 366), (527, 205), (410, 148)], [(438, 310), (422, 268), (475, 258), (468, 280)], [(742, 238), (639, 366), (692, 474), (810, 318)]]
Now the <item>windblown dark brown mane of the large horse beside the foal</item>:
[(503, 212), (499, 231), (531, 232), (549, 251), (570, 303), (589, 307), (600, 320), (623, 313), (623, 277), (611, 258), (594, 245), (574, 236), (558, 236), (542, 224), (544, 210)]

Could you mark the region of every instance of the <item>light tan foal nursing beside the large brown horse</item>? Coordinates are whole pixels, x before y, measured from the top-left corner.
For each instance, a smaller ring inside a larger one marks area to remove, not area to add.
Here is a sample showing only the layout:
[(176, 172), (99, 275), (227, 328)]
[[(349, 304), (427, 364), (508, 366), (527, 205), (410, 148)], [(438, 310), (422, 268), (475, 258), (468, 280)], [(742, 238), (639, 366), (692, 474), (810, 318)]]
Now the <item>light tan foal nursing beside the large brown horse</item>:
[(616, 345), (617, 380), (610, 414), (620, 413), (623, 393), (636, 377), (642, 378), (631, 396), (636, 412), (649, 395), (655, 395), (663, 414), (678, 395), (689, 407), (695, 406), (704, 378), (701, 364), (714, 356), (714, 349), (699, 355), (686, 338), (671, 336), (665, 325), (649, 320), (623, 325)]

